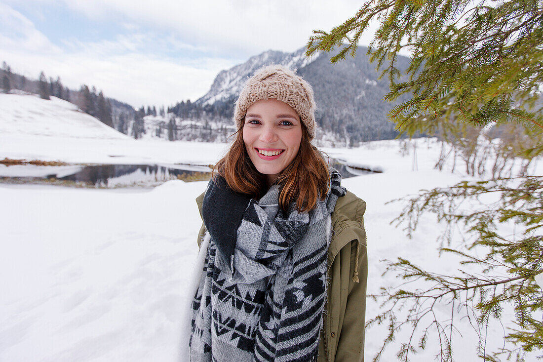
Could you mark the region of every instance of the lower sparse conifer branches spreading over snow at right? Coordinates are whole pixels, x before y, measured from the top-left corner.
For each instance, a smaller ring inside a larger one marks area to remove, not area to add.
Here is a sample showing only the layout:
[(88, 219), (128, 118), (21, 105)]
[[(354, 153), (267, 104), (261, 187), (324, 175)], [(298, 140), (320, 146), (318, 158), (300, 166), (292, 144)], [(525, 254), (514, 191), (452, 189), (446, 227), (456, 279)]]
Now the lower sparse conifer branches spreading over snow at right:
[[(489, 202), (489, 195), (493, 202)], [(462, 333), (455, 318), (469, 319), (478, 331), (477, 354), (484, 360), (523, 361), (526, 352), (543, 349), (543, 294), (535, 280), (543, 272), (542, 209), (542, 176), (462, 182), (410, 198), (395, 222), (405, 224), (411, 235), (422, 214), (435, 214), (446, 224), (442, 242), (447, 247), (441, 252), (459, 258), (459, 273), (430, 272), (403, 258), (388, 261), (385, 273), (397, 273), (405, 283), (400, 288), (382, 288), (372, 296), (382, 301), (381, 312), (368, 326), (389, 326), (388, 338), (374, 360), (402, 329), (411, 328), (410, 338), (397, 354), (401, 360), (407, 361), (417, 348), (424, 349), (428, 333), (434, 332), (439, 359), (452, 361), (453, 336)], [(471, 236), (466, 240), (472, 242), (465, 247), (448, 247), (458, 223)], [(515, 235), (503, 228), (508, 223), (515, 224)], [(444, 305), (450, 308), (450, 317), (445, 317)], [(489, 351), (485, 348), (489, 320), (501, 320), (508, 308), (513, 309), (517, 329), (509, 329), (509, 324), (503, 347)]]

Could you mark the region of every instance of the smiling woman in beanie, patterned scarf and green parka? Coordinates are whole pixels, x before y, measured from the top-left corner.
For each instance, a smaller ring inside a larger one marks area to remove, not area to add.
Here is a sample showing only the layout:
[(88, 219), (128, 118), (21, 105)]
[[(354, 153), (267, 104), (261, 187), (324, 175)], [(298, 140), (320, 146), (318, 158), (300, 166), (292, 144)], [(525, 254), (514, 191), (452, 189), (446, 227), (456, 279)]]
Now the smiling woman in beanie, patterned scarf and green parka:
[(236, 102), (236, 140), (197, 201), (191, 361), (362, 361), (365, 203), (311, 145), (311, 86), (268, 66)]

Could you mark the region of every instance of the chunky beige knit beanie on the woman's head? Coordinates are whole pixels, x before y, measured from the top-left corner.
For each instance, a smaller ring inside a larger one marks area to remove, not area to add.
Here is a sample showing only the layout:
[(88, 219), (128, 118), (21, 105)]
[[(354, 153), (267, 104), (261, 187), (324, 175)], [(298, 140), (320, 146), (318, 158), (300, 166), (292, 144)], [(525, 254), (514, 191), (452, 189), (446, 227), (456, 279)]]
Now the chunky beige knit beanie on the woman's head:
[(251, 105), (261, 99), (275, 98), (290, 105), (304, 122), (311, 139), (315, 137), (315, 100), (311, 85), (282, 65), (258, 69), (245, 84), (236, 101), (233, 121), (240, 129)]

